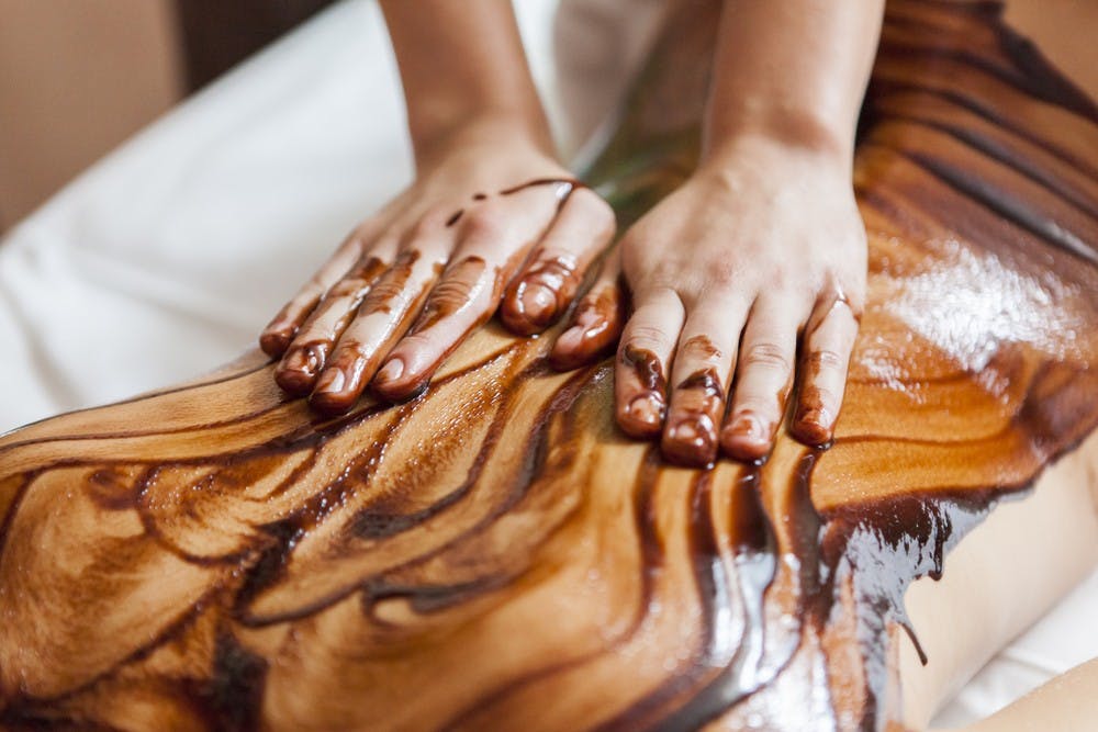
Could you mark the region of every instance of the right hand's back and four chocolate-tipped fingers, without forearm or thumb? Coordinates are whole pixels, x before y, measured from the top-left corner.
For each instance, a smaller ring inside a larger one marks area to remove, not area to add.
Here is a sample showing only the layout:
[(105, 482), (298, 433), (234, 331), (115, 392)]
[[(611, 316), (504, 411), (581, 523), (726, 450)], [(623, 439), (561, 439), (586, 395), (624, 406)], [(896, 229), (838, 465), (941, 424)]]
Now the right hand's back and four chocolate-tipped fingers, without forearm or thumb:
[(626, 233), (634, 312), (615, 381), (628, 435), (662, 432), (664, 454), (691, 465), (712, 462), (718, 446), (765, 459), (799, 338), (792, 431), (814, 446), (831, 440), (865, 297), (850, 176), (849, 160), (744, 138)]

